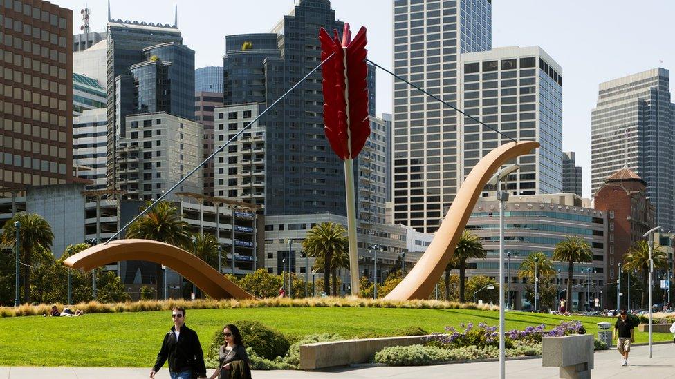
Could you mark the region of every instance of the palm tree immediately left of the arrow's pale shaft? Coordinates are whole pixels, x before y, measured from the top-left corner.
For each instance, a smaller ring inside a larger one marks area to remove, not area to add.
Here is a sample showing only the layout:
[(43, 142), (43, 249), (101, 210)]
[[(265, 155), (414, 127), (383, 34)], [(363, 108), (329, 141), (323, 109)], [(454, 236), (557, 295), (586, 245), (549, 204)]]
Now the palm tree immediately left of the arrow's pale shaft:
[[(330, 293), (329, 280), (333, 272), (333, 257), (338, 257), (342, 261), (342, 256), (347, 255), (349, 262), (349, 243), (346, 237), (346, 229), (335, 222), (324, 222), (317, 224), (302, 241), (302, 249), (310, 257), (315, 258), (314, 269), (321, 269), (324, 272), (324, 292)], [(334, 287), (337, 281), (334, 280)]]

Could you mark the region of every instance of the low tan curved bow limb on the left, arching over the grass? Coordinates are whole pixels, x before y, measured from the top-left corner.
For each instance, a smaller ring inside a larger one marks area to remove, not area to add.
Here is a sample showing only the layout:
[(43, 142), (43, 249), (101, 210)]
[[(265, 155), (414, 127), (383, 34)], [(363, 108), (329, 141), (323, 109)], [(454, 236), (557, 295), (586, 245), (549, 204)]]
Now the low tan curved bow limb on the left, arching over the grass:
[(89, 271), (120, 260), (145, 260), (171, 267), (214, 299), (254, 298), (198, 257), (158, 241), (115, 240), (98, 244), (68, 257), (64, 264), (73, 269)]

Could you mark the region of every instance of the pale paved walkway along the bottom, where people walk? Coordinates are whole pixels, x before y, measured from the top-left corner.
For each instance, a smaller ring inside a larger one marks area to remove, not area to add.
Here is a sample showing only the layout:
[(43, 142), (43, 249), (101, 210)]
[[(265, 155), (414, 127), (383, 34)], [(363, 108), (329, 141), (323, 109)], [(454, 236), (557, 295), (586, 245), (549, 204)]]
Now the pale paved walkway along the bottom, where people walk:
[[(654, 358), (649, 358), (649, 348), (634, 347), (629, 366), (621, 366), (621, 357), (616, 351), (595, 353), (593, 378), (674, 378), (675, 347), (672, 344), (654, 345)], [(81, 378), (81, 379), (143, 379), (148, 378), (150, 369), (138, 368), (93, 368), (93, 367), (0, 367), (0, 379), (23, 378)], [(209, 374), (213, 371), (209, 370)], [(298, 378), (298, 379), (340, 379), (340, 378), (471, 378), (492, 379), (499, 377), (499, 362), (464, 363), (423, 367), (353, 367), (329, 372), (304, 371), (254, 371), (253, 378)], [(506, 362), (506, 377), (517, 379), (558, 378), (557, 369), (542, 367), (541, 359), (510, 360)], [(155, 378), (167, 379), (169, 372), (162, 369)]]

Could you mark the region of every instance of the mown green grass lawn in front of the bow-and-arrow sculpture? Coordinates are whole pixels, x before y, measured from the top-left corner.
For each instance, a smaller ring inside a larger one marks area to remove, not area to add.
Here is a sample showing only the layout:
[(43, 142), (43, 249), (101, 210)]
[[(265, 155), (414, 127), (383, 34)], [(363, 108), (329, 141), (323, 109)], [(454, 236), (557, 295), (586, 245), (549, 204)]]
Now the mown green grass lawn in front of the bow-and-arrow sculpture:
[[(164, 334), (172, 325), (170, 311), (98, 313), (78, 318), (13, 317), (0, 320), (2, 366), (151, 367)], [(392, 309), (355, 307), (246, 308), (188, 310), (186, 323), (195, 329), (204, 348), (224, 324), (256, 320), (288, 336), (339, 333), (344, 338), (392, 336), (407, 327), (429, 332), (461, 322), (499, 323), (499, 312), (469, 309)], [(612, 318), (564, 317), (506, 313), (506, 329), (580, 320), (587, 333), (597, 333), (597, 322)], [(654, 333), (655, 341), (672, 340), (670, 333)], [(647, 342), (638, 333), (636, 342)]]

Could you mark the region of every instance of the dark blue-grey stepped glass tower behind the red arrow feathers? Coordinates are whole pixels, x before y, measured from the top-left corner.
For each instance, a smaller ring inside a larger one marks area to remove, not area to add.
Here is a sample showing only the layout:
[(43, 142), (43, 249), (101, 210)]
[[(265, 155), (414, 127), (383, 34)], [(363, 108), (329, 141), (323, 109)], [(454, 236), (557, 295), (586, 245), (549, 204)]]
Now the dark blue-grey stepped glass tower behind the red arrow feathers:
[[(226, 37), (223, 99), (226, 107), (237, 109), (224, 109), (223, 115), (239, 112), (241, 104), (270, 106), (319, 64), (319, 28), (342, 32), (344, 23), (335, 20), (330, 1), (300, 0), (296, 4), (270, 33)], [(346, 215), (343, 164), (324, 136), (321, 83), (321, 70), (317, 70), (258, 122), (264, 126), (266, 140), (261, 177), (266, 215)], [(368, 84), (369, 112), (374, 115), (374, 70), (369, 70)], [(216, 117), (216, 128), (218, 123)], [(234, 123), (226, 120), (223, 125), (229, 128)], [(227, 182), (230, 179), (235, 178), (228, 177)], [(219, 189), (217, 178), (215, 185), (216, 193), (230, 191)]]

